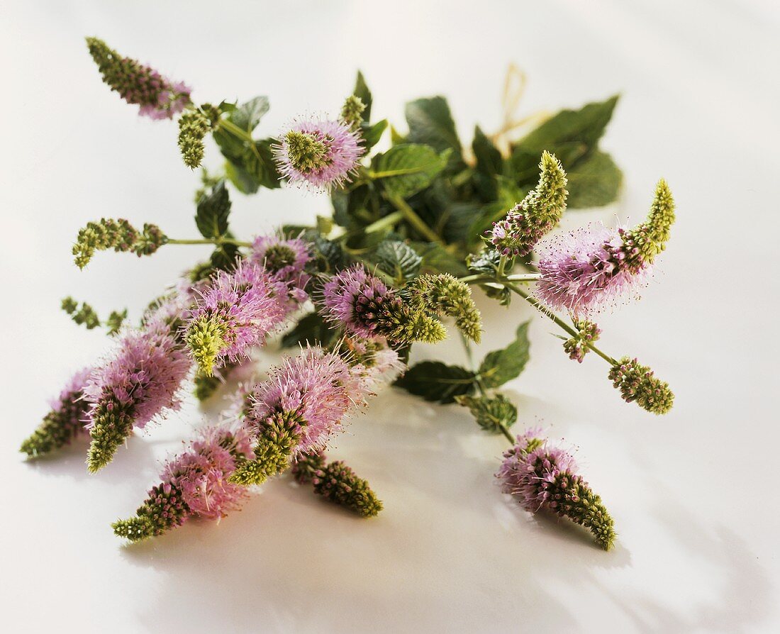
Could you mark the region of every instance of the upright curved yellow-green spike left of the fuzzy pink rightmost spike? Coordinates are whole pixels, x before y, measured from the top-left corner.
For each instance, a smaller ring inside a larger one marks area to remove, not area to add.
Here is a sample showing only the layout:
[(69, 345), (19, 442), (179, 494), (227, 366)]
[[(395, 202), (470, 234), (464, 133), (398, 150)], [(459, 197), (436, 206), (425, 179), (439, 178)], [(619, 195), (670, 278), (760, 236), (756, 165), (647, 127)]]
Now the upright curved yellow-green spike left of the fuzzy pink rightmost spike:
[(502, 221), (485, 232), (485, 240), (505, 256), (524, 256), (561, 220), (566, 210), (566, 172), (554, 154), (544, 151), (539, 182)]

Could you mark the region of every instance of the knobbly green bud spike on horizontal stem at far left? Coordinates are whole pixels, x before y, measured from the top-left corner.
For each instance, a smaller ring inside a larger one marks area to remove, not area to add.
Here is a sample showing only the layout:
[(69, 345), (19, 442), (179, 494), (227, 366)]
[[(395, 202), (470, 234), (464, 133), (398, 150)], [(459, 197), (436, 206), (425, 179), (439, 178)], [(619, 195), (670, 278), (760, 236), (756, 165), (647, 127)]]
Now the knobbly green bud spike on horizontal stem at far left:
[(101, 218), (98, 222), (87, 222), (87, 226), (79, 230), (73, 256), (76, 266), (83, 268), (89, 264), (95, 251), (131, 251), (141, 257), (151, 255), (167, 241), (167, 236), (157, 225), (144, 223), (144, 229), (138, 231), (124, 218)]

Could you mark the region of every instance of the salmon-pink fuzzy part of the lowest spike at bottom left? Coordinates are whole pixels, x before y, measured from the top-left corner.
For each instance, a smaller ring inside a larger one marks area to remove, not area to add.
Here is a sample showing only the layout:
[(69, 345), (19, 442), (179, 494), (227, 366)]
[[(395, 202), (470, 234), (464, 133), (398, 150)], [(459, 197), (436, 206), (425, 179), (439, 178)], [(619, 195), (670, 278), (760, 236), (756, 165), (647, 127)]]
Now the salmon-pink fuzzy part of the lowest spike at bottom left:
[(252, 441), (243, 427), (208, 427), (188, 451), (168, 462), (163, 484), (178, 487), (189, 515), (219, 519), (239, 508), (246, 488), (229, 483), (239, 459), (253, 459)]

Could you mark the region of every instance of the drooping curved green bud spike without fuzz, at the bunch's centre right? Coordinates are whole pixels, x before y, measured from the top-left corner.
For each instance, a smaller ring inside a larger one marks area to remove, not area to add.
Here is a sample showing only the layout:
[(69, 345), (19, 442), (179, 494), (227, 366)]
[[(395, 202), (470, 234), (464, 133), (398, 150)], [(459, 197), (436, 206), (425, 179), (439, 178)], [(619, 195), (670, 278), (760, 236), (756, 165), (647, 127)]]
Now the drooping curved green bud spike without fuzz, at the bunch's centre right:
[(473, 342), (480, 342), (482, 317), (465, 282), (449, 273), (420, 275), (406, 285), (402, 295), (409, 301), (412, 310), (455, 317), (459, 331)]

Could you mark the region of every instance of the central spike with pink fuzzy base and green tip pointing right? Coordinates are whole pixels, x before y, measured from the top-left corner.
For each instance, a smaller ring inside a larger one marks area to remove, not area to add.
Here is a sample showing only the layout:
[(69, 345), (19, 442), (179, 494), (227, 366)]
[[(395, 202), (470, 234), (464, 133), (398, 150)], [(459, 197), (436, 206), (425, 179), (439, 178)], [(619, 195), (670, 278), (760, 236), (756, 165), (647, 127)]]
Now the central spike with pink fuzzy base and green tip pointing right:
[(359, 264), (341, 271), (323, 289), (323, 316), (349, 334), (392, 342), (438, 342), (444, 326), (423, 307), (410, 306), (379, 278)]

